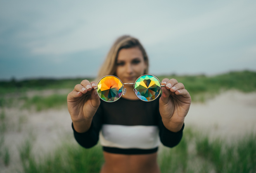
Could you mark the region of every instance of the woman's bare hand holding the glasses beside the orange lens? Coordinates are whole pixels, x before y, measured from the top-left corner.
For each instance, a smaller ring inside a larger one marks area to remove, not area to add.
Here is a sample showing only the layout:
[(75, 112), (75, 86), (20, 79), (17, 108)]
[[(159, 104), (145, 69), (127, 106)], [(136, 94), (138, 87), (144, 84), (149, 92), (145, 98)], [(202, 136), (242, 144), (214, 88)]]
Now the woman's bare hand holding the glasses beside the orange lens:
[[(100, 105), (100, 98), (97, 95), (97, 90), (94, 89), (95, 87), (95, 82), (90, 83), (88, 80), (83, 80), (67, 95), (67, 108), (74, 127), (75, 124), (78, 126), (79, 124), (81, 126), (89, 125), (90, 127), (92, 117)], [(75, 129), (77, 128), (75, 127)]]

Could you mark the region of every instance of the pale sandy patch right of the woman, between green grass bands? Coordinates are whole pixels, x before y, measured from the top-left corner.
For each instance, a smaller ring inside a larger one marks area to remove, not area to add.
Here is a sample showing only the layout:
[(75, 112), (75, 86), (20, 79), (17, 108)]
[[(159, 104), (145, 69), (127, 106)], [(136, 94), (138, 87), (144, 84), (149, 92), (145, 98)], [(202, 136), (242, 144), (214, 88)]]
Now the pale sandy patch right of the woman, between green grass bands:
[(185, 124), (213, 136), (256, 132), (256, 93), (228, 91), (206, 103), (192, 103)]

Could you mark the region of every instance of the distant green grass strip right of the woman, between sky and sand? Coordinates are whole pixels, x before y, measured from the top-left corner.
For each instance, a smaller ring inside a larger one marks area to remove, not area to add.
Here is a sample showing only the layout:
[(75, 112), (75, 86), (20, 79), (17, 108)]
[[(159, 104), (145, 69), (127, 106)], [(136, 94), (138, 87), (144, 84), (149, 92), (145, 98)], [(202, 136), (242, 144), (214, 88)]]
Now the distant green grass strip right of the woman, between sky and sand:
[(256, 91), (256, 72), (254, 71), (234, 71), (216, 76), (159, 76), (160, 81), (163, 78), (177, 79), (189, 91), (192, 101), (199, 102), (204, 102), (223, 90)]

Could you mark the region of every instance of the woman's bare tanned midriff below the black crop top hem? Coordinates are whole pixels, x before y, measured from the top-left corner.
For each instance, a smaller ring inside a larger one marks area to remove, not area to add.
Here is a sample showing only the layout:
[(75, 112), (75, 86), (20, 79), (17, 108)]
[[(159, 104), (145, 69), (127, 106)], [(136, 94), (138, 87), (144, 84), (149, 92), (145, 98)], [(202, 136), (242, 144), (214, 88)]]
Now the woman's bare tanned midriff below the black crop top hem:
[(105, 163), (100, 173), (160, 173), (157, 153), (114, 154), (103, 152)]

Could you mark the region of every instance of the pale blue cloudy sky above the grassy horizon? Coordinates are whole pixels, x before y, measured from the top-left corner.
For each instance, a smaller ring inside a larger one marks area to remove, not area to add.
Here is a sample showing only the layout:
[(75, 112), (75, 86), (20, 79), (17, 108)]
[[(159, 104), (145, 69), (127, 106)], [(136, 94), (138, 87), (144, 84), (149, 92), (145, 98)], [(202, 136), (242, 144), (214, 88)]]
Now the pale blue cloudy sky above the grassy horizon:
[(137, 37), (152, 75), (256, 71), (255, 0), (0, 0), (0, 80), (95, 77)]

